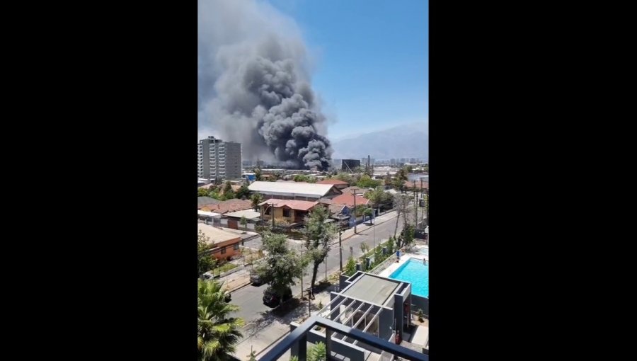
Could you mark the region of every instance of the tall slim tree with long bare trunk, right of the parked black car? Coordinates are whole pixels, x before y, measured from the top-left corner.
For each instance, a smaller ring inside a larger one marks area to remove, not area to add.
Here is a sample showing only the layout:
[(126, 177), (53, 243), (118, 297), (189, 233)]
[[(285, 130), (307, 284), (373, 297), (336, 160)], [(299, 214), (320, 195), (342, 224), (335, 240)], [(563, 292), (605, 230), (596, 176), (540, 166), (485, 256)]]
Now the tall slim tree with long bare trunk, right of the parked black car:
[(328, 252), (330, 251), (330, 243), (335, 234), (338, 233), (333, 223), (326, 223), (328, 219), (328, 210), (324, 207), (316, 207), (305, 218), (306, 243), (308, 257), (311, 258), (314, 265), (312, 267), (312, 281), (310, 283), (311, 297), (314, 298), (314, 282), (316, 282), (316, 273), (319, 271), (319, 265), (323, 263)]

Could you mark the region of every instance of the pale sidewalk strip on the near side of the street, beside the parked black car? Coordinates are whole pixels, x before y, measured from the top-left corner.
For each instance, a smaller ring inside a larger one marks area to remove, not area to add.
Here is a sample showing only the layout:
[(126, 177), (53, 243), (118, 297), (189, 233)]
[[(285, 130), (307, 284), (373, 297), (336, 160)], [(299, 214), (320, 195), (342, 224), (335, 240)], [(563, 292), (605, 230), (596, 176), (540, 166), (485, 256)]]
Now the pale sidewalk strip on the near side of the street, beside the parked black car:
[[(333, 286), (315, 294), (315, 299), (311, 300), (312, 315), (319, 311), (319, 302), (322, 302), (323, 306), (330, 302), (331, 290)], [(272, 310), (264, 312), (258, 322), (250, 323), (241, 329), (243, 338), (236, 345), (234, 357), (239, 360), (248, 360), (252, 349), (258, 359), (289, 334), (289, 323), (292, 321), (302, 323), (307, 317), (307, 300), (301, 301), (297, 307), (283, 316), (275, 315)], [(289, 360), (289, 350), (279, 357), (279, 361), (287, 360)]]

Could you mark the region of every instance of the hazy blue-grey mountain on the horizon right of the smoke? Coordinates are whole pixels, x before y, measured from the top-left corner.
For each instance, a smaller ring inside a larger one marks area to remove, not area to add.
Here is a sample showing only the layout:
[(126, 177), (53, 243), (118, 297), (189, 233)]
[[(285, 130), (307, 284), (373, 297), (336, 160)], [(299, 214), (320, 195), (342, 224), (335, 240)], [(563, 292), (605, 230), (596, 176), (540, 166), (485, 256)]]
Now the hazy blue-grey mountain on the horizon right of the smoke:
[(425, 123), (399, 125), (387, 130), (360, 134), (332, 143), (335, 159), (423, 158), (429, 159), (429, 137)]

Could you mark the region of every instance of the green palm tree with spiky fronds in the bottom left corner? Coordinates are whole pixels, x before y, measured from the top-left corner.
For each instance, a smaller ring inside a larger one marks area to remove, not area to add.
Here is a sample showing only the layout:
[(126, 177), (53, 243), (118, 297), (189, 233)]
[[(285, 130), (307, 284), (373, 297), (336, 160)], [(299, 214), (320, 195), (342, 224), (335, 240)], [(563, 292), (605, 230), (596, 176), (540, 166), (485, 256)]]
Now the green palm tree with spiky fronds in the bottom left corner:
[(226, 302), (229, 294), (216, 281), (199, 280), (197, 287), (197, 350), (199, 360), (229, 360), (242, 337), (243, 319), (228, 317), (239, 306)]

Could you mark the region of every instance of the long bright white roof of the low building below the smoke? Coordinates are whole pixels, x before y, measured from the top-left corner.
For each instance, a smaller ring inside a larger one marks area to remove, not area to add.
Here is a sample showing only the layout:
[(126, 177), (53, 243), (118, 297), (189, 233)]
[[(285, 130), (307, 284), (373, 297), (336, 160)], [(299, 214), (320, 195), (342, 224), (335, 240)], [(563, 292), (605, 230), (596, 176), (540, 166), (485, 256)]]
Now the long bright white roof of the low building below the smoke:
[(303, 182), (254, 182), (249, 187), (253, 193), (263, 195), (266, 200), (305, 200), (314, 202), (320, 198), (333, 198), (342, 194), (333, 184)]

